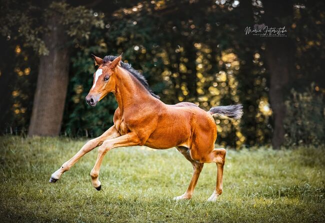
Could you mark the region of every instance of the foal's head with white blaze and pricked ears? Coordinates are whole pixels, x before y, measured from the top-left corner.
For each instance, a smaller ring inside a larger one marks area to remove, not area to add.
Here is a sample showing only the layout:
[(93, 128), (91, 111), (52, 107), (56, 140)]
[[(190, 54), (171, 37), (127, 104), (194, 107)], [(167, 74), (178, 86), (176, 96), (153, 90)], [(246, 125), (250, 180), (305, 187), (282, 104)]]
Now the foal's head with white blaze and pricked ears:
[(109, 92), (114, 91), (116, 83), (116, 67), (120, 66), (121, 56), (116, 57), (113, 61), (104, 63), (104, 61), (91, 55), (95, 61), (95, 65), (98, 66), (97, 71), (93, 74), (93, 84), (86, 96), (86, 102), (88, 105), (94, 107), (99, 100), (106, 96)]

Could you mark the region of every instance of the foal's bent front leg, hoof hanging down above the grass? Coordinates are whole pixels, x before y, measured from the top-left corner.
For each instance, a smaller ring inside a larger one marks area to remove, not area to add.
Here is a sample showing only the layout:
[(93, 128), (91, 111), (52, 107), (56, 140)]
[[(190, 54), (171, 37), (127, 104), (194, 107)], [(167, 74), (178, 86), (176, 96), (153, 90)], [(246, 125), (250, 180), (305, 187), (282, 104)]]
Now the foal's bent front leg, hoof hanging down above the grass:
[(109, 150), (116, 148), (116, 147), (135, 146), (135, 145), (139, 145), (139, 143), (140, 143), (140, 140), (137, 137), (137, 134), (133, 133), (133, 132), (130, 132), (126, 135), (119, 136), (114, 139), (105, 140), (102, 143), (102, 145), (98, 147), (97, 160), (96, 160), (94, 167), (92, 168), (92, 170), (90, 172), (92, 186), (94, 188), (96, 188), (96, 190), (101, 189), (101, 183), (98, 180), (98, 176), (99, 176), (100, 165), (101, 165), (102, 159), (104, 158), (104, 155), (106, 154), (106, 152), (108, 152)]

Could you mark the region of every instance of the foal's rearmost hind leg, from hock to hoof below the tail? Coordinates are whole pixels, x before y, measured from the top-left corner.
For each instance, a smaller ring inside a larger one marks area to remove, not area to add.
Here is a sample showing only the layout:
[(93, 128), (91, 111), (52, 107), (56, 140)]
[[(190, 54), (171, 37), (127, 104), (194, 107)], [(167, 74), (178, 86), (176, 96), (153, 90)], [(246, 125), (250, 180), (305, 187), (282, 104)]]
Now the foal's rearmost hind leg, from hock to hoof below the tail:
[(212, 195), (207, 199), (208, 201), (215, 201), (216, 198), (222, 193), (222, 175), (223, 165), (225, 161), (225, 149), (213, 149), (208, 155), (206, 162), (215, 162), (217, 166), (216, 186)]

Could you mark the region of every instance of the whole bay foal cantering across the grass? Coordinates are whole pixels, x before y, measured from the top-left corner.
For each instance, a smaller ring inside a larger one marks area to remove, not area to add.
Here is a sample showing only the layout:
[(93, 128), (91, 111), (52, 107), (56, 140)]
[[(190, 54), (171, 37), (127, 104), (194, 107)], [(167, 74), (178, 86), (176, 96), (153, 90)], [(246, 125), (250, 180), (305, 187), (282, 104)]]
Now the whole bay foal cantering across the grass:
[[(93, 55), (92, 55), (93, 56)], [(121, 146), (145, 145), (154, 149), (177, 150), (192, 164), (193, 175), (184, 194), (174, 197), (190, 199), (204, 163), (215, 162), (217, 166), (216, 187), (209, 201), (215, 201), (222, 193), (222, 172), (225, 149), (215, 149), (216, 125), (212, 115), (220, 114), (238, 119), (242, 115), (241, 105), (213, 107), (208, 112), (197, 105), (182, 102), (166, 105), (148, 88), (144, 77), (121, 62), (121, 56), (93, 56), (97, 71), (86, 102), (95, 106), (109, 92), (115, 95), (118, 108), (113, 122), (101, 136), (89, 140), (68, 161), (56, 170), (49, 182), (56, 182), (61, 174), (71, 168), (84, 154), (95, 147), (98, 156), (90, 172), (92, 185), (100, 190), (99, 169), (104, 155)]]

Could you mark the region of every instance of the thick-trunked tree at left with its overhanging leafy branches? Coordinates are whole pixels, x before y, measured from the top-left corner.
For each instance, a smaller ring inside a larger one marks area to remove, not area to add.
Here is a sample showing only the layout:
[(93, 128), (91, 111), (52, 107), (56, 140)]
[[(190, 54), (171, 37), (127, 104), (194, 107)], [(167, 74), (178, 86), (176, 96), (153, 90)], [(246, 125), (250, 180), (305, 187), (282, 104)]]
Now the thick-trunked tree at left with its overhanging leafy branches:
[[(65, 2), (44, 1), (39, 5), (30, 1), (19, 7), (19, 2), (4, 2), (1, 9), (7, 11), (2, 35), (10, 36), (19, 27), (19, 37), (40, 55), (28, 135), (58, 135), (68, 84), (69, 45), (87, 39), (92, 27), (103, 28), (102, 15), (98, 17), (83, 6), (71, 7)], [(23, 19), (16, 16), (19, 11)], [(13, 23), (12, 15), (17, 17)], [(38, 24), (33, 24), (34, 20)]]

